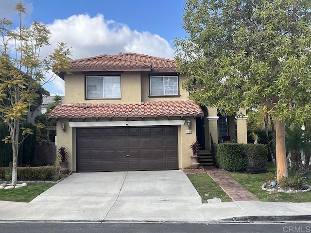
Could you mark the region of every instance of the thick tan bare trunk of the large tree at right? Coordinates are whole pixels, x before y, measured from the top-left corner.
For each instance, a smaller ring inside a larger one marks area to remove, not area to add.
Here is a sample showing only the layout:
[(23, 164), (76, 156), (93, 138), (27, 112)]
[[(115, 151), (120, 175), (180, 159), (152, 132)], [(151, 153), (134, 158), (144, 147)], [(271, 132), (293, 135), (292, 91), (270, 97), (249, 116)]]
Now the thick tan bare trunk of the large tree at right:
[(276, 181), (287, 177), (287, 161), (285, 150), (285, 122), (276, 120)]

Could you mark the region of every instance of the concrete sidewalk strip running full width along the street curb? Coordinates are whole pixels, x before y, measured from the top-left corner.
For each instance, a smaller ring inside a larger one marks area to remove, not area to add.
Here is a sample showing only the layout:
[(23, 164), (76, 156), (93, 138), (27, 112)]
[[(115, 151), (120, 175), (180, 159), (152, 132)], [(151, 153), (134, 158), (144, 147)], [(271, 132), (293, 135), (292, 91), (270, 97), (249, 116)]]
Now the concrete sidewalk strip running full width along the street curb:
[(311, 221), (311, 202), (279, 203), (236, 201), (212, 204), (124, 201), (106, 209), (103, 204), (61, 206), (57, 203), (0, 201), (0, 221), (152, 221), (152, 222), (259, 222)]

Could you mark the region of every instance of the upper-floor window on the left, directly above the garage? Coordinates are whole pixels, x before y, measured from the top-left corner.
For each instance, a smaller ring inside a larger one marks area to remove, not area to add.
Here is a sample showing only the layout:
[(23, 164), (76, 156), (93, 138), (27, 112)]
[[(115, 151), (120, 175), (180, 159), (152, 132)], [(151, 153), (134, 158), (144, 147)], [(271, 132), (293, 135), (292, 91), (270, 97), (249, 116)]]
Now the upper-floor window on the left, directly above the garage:
[(120, 98), (120, 76), (86, 76), (86, 99)]

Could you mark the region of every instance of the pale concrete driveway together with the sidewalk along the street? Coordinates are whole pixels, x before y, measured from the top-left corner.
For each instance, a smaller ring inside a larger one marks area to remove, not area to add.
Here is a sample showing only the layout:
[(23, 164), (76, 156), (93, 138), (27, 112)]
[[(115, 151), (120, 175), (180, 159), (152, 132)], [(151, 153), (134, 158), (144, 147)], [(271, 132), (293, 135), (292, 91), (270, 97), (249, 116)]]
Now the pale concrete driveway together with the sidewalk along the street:
[(311, 202), (202, 204), (182, 171), (75, 173), (29, 203), (0, 201), (0, 221), (311, 221)]

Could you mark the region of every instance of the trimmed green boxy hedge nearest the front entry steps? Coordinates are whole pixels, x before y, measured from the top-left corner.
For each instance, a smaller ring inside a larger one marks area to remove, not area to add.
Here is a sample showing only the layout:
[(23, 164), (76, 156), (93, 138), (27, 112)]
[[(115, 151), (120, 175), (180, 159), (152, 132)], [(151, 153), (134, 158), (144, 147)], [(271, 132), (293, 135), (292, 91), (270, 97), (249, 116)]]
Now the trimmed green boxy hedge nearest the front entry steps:
[(222, 143), (217, 144), (215, 147), (215, 164), (220, 168), (227, 171), (241, 171), (245, 168), (243, 144)]

